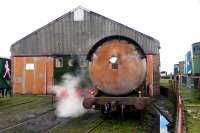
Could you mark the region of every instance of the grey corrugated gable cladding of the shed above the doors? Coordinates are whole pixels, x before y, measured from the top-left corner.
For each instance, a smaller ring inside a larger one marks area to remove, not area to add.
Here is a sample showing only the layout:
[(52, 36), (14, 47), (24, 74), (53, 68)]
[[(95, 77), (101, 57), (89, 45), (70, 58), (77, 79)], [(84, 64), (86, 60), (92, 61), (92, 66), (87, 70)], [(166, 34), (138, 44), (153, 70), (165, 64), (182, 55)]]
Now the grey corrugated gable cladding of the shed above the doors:
[(96, 42), (111, 35), (130, 37), (146, 53), (159, 53), (157, 40), (86, 10), (83, 21), (74, 21), (72, 11), (13, 44), (11, 53), (13, 56), (87, 54)]

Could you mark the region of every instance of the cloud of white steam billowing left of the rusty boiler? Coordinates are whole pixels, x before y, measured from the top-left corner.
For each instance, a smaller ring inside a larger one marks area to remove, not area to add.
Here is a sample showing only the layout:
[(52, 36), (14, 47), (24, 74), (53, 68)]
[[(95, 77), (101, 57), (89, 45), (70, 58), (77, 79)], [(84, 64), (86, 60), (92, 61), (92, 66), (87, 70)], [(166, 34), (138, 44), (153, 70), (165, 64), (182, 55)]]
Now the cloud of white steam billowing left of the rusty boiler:
[(53, 87), (56, 94), (56, 114), (58, 117), (78, 117), (86, 112), (83, 107), (83, 97), (77, 94), (80, 78), (69, 74), (63, 76), (61, 85)]

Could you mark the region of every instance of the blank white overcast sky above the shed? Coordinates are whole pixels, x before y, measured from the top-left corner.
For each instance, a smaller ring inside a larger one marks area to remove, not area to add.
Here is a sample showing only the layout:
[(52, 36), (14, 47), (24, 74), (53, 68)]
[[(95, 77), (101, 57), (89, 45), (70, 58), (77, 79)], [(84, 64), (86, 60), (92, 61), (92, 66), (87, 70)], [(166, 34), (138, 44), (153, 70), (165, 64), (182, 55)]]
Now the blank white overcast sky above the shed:
[(11, 44), (80, 5), (159, 40), (161, 70), (172, 71), (200, 41), (200, 0), (2, 0), (0, 56), (9, 57)]

